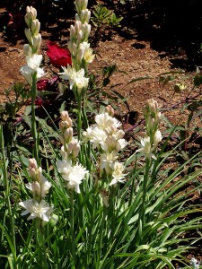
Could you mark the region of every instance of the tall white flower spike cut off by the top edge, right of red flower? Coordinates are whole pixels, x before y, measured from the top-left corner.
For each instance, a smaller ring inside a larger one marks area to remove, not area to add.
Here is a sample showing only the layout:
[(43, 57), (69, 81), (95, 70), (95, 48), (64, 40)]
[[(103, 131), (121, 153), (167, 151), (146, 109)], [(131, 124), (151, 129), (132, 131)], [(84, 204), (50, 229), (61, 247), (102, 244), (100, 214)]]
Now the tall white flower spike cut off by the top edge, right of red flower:
[(63, 67), (61, 78), (70, 82), (70, 88), (77, 94), (86, 90), (89, 79), (85, 77), (87, 67), (94, 58), (88, 43), (91, 25), (88, 23), (91, 12), (87, 9), (88, 0), (76, 0), (75, 26), (70, 26), (68, 48), (72, 56), (72, 66)]

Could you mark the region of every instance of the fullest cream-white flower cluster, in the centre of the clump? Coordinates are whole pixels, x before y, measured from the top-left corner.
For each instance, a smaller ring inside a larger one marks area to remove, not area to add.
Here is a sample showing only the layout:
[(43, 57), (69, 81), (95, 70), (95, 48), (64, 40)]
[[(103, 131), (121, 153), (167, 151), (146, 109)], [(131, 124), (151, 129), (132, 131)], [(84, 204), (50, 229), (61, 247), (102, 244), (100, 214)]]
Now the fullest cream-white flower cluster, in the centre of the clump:
[(104, 113), (95, 117), (96, 124), (83, 133), (92, 143), (92, 147), (100, 152), (99, 169), (102, 175), (110, 178), (110, 186), (122, 182), (125, 177), (124, 165), (118, 161), (118, 153), (127, 145), (123, 138), (125, 133), (119, 129), (121, 124), (113, 116), (114, 110), (108, 106)]

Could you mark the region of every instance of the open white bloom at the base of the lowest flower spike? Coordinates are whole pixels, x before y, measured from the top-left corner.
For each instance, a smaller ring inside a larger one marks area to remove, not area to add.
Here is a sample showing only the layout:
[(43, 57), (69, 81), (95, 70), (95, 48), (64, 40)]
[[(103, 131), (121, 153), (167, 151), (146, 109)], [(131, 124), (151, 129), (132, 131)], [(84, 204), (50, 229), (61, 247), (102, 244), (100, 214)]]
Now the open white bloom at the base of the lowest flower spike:
[(25, 208), (22, 216), (31, 213), (31, 215), (28, 217), (28, 221), (35, 218), (40, 218), (43, 221), (49, 221), (50, 214), (53, 212), (53, 208), (49, 207), (49, 204), (44, 200), (41, 200), (40, 203), (38, 203), (30, 199), (19, 204)]

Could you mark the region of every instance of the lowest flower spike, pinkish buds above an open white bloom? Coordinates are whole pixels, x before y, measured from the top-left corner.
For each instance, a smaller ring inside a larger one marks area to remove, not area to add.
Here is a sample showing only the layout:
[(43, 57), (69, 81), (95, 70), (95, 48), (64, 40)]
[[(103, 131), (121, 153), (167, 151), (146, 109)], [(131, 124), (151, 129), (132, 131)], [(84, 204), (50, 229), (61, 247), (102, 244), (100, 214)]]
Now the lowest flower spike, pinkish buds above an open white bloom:
[(25, 208), (22, 215), (31, 213), (28, 220), (39, 218), (42, 221), (49, 221), (53, 208), (45, 202), (44, 196), (48, 194), (51, 183), (42, 175), (42, 169), (38, 167), (35, 159), (29, 161), (29, 172), (32, 182), (26, 187), (31, 190), (33, 198), (19, 203)]

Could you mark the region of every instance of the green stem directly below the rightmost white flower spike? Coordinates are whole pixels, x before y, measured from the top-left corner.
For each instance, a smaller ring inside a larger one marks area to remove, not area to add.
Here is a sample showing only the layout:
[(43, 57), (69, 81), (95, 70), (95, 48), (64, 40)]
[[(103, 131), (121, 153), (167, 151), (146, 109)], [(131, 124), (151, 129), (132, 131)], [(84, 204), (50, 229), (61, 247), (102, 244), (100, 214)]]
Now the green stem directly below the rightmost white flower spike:
[(150, 159), (146, 158), (145, 160), (145, 176), (143, 179), (143, 201), (140, 207), (140, 212), (139, 212), (139, 219), (138, 219), (138, 239), (136, 241), (136, 244), (139, 244), (142, 239), (142, 232), (143, 232), (143, 227), (145, 225), (145, 209), (146, 209), (146, 194), (147, 194), (147, 182), (148, 182), (148, 175), (149, 175), (149, 170), (150, 170)]

